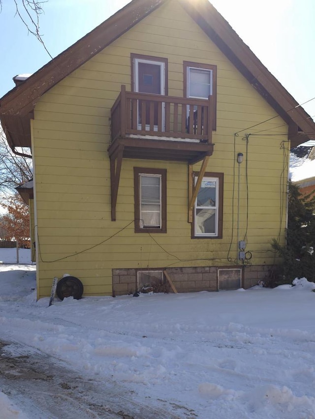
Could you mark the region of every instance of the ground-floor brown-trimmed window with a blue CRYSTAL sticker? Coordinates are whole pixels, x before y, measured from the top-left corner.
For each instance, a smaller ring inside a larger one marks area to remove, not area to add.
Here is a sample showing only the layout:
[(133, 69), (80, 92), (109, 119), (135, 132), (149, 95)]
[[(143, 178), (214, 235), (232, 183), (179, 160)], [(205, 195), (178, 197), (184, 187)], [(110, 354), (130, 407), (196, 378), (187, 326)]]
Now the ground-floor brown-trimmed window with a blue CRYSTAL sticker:
[[(196, 183), (198, 173), (194, 173)], [(192, 223), (192, 237), (222, 238), (223, 173), (206, 172), (196, 198)]]

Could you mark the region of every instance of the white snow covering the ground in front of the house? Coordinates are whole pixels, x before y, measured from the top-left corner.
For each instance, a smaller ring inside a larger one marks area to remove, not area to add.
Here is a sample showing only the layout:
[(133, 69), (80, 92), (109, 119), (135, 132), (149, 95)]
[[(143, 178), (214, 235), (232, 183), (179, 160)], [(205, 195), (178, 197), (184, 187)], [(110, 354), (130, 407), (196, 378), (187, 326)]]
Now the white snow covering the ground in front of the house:
[[(48, 307), (48, 298), (35, 300), (34, 265), (0, 265), (0, 287), (2, 340), (124, 385), (139, 403), (172, 407), (177, 418), (315, 418), (315, 284), (306, 279)], [(0, 392), (5, 418), (29, 418), (18, 402)]]

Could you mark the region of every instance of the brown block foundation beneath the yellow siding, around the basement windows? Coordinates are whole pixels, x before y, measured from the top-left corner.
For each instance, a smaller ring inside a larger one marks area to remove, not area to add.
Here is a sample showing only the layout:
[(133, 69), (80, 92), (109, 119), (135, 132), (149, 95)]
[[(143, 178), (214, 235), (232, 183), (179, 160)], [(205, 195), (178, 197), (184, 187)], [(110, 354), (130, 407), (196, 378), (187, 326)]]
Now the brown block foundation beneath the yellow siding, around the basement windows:
[[(243, 269), (242, 287), (250, 288), (257, 285), (258, 281), (264, 281), (272, 266), (229, 266), (229, 267), (190, 267), (190, 268), (167, 268), (166, 271), (172, 280), (177, 292), (191, 293), (198, 291), (218, 291), (218, 271), (223, 269)], [(164, 270), (164, 268), (141, 269), (141, 270)], [(137, 291), (138, 269), (112, 269), (113, 295), (133, 294)], [(167, 280), (166, 280), (167, 283)], [(172, 290), (170, 289), (170, 292)]]

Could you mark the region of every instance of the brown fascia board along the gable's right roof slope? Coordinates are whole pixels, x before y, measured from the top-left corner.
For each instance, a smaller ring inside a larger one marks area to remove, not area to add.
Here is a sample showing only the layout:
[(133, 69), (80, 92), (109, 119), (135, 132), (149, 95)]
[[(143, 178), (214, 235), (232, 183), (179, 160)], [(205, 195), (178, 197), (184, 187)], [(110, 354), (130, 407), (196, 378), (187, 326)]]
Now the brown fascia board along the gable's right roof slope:
[(315, 138), (315, 123), (311, 117), (298, 106), (298, 102), (258, 60), (217, 9), (208, 0), (178, 1), (275, 111), (286, 122), (293, 120), (305, 133), (310, 133), (309, 139)]

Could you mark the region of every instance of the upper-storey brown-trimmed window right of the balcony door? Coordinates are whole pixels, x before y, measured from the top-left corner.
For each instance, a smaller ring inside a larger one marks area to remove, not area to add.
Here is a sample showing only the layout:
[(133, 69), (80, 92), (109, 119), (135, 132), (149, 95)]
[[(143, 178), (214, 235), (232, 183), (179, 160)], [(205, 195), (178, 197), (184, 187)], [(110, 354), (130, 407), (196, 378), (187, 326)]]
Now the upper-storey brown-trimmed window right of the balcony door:
[(184, 61), (184, 97), (208, 99), (214, 97), (211, 110), (212, 127), (217, 129), (217, 66)]

